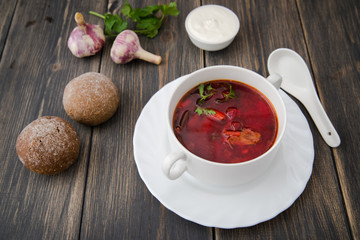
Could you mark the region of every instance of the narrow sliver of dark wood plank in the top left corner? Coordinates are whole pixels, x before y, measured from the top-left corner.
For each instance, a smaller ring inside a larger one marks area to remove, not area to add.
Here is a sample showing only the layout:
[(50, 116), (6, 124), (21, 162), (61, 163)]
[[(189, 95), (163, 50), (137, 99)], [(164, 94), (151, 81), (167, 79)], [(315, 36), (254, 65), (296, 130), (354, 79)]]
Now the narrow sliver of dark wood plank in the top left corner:
[(0, 60), (17, 1), (0, 2)]

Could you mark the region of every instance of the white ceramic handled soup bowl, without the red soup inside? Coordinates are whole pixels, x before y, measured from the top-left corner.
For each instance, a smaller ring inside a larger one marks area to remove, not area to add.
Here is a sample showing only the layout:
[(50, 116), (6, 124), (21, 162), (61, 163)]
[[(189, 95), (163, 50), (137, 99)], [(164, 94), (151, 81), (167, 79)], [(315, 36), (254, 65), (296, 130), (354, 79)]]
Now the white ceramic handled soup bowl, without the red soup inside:
[[(275, 143), (264, 154), (241, 163), (218, 163), (196, 156), (187, 150), (176, 138), (173, 131), (173, 114), (179, 100), (193, 87), (200, 83), (231, 79), (245, 83), (260, 91), (274, 106), (278, 117), (278, 133)], [(163, 161), (163, 172), (171, 179), (179, 178), (185, 171), (198, 180), (218, 186), (231, 186), (246, 183), (264, 173), (272, 163), (283, 138), (286, 126), (285, 104), (278, 89), (270, 79), (245, 68), (236, 66), (211, 66), (193, 72), (179, 84), (171, 95), (167, 114), (166, 130), (169, 137), (171, 153)]]

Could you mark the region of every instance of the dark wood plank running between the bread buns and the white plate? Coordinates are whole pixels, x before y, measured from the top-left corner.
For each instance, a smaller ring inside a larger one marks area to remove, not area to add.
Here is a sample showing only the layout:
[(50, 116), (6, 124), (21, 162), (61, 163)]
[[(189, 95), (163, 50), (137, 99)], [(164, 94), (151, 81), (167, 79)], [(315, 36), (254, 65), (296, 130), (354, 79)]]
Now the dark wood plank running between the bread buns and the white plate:
[[(130, 3), (144, 7), (158, 2)], [(140, 36), (144, 49), (162, 56), (160, 66), (140, 60), (116, 65), (109, 56), (111, 44), (106, 45), (100, 71), (119, 87), (120, 107), (94, 129), (82, 239), (212, 239), (211, 228), (180, 218), (147, 190), (135, 165), (131, 137), (141, 109), (159, 88), (202, 67), (201, 51), (184, 42), (185, 17), (198, 4), (178, 2), (181, 14), (167, 18), (156, 38)]]

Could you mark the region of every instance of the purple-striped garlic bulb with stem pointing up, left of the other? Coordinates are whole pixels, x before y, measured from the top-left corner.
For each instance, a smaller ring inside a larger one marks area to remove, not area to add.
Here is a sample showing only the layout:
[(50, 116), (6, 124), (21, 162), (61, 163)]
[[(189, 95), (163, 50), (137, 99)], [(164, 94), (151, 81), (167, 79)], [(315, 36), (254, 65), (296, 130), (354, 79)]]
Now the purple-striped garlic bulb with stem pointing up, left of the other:
[(75, 14), (77, 27), (71, 32), (68, 47), (78, 57), (87, 57), (98, 53), (105, 43), (103, 29), (99, 25), (86, 23), (81, 13)]

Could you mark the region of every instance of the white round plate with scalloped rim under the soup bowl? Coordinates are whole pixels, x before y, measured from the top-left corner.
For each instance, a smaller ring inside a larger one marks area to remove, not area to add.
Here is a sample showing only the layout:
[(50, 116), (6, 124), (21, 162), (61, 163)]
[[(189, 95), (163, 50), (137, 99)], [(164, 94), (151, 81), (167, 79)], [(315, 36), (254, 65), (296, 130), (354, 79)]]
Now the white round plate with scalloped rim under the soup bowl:
[(167, 104), (182, 79), (160, 89), (146, 104), (135, 126), (135, 162), (153, 196), (179, 216), (217, 228), (253, 226), (290, 207), (311, 176), (314, 146), (306, 118), (282, 91), (288, 125), (277, 158), (261, 178), (235, 187), (216, 187), (186, 172), (173, 181), (165, 177), (161, 164), (170, 151), (165, 128)]

